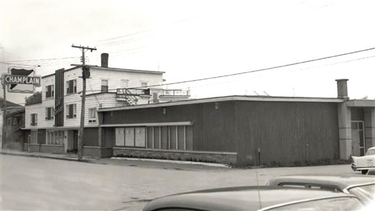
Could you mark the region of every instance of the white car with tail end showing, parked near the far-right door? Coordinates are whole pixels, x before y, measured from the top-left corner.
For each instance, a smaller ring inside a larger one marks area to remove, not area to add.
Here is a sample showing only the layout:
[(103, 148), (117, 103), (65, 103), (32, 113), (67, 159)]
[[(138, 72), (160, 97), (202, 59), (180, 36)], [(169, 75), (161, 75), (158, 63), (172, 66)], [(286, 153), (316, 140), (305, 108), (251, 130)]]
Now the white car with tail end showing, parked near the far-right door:
[(375, 146), (367, 149), (365, 156), (351, 156), (353, 162), (351, 163), (351, 169), (353, 171), (362, 171), (362, 174), (366, 174), (371, 168), (375, 168)]

